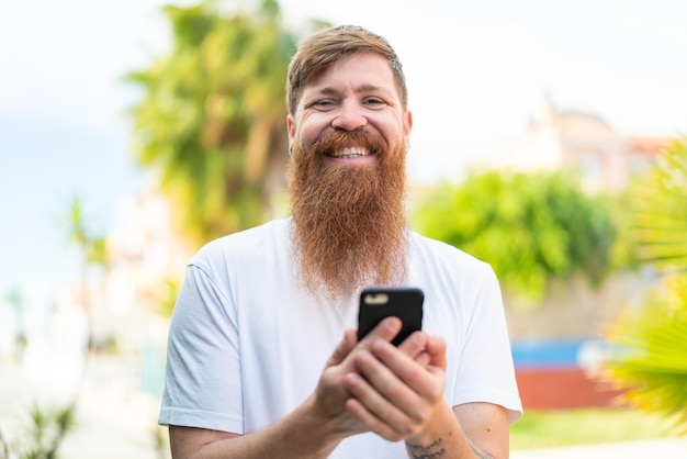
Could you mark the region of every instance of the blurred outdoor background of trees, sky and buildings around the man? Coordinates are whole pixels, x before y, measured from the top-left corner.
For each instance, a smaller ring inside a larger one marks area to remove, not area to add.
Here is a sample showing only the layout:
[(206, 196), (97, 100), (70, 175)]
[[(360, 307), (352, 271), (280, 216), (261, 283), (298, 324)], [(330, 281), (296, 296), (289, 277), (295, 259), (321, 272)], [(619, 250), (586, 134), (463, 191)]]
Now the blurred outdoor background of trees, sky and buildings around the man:
[(413, 227), (500, 279), (513, 448), (678, 438), (686, 20), (682, 0), (5, 4), (0, 458), (168, 457), (185, 261), (288, 214), (285, 67), (341, 23), (403, 61)]

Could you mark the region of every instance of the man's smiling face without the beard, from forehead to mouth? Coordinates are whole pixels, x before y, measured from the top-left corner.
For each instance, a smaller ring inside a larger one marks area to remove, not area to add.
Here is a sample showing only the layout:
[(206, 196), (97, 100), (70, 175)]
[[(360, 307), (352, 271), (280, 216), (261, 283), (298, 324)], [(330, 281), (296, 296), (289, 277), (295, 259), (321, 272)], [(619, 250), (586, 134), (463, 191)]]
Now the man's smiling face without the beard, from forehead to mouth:
[[(296, 112), (288, 119), (290, 142), (303, 149), (334, 132), (364, 131), (383, 139), (388, 152), (401, 152), (406, 149), (401, 147), (407, 145), (412, 125), (388, 63), (372, 53), (344, 58), (308, 81)], [(354, 167), (376, 164), (379, 156), (368, 145), (351, 141), (323, 152), (322, 159)]]

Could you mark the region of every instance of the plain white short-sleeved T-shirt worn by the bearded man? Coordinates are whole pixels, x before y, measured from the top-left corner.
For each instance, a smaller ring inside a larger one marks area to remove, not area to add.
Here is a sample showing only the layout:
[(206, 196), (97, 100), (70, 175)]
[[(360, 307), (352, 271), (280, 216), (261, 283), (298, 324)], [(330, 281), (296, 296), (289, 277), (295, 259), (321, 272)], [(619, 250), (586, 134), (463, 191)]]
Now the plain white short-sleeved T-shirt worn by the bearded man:
[[(331, 304), (296, 279), (291, 220), (203, 247), (190, 261), (169, 331), (161, 425), (249, 434), (314, 391), (358, 298)], [(408, 284), (425, 292), (423, 328), (447, 342), (444, 399), (489, 402), (515, 421), (521, 404), (498, 282), (492, 268), (409, 233)], [(345, 439), (331, 458), (398, 458), (405, 446), (374, 434)]]

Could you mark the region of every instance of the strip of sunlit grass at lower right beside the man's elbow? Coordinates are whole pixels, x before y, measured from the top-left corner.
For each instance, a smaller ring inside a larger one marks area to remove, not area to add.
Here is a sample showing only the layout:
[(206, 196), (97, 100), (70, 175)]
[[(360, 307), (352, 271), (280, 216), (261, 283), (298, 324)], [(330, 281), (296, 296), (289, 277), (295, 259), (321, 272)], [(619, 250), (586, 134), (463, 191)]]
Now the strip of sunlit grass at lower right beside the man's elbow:
[(635, 410), (526, 411), (510, 426), (510, 449), (536, 449), (674, 436), (656, 417)]

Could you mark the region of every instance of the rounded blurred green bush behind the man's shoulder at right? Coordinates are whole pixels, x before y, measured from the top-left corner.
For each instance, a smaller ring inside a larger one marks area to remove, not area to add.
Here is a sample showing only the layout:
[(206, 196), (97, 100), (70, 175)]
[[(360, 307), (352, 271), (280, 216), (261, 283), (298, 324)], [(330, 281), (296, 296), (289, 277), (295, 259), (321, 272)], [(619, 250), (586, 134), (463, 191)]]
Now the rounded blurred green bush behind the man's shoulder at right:
[(598, 282), (612, 267), (608, 200), (563, 173), (473, 173), (421, 200), (413, 225), (488, 261), (505, 290), (539, 301), (550, 279)]

